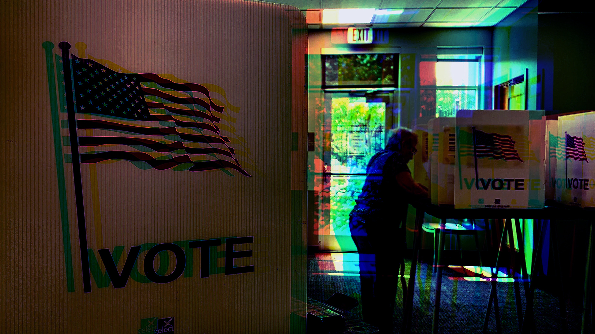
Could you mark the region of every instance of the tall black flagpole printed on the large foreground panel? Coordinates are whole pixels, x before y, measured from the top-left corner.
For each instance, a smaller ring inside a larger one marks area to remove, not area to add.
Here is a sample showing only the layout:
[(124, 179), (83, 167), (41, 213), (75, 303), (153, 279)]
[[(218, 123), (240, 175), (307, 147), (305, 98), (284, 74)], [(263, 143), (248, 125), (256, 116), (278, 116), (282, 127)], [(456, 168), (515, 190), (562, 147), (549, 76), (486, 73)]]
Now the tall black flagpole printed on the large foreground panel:
[(77, 220), (79, 222), (79, 246), (81, 269), (83, 272), (83, 288), (84, 292), (91, 292), (89, 256), (87, 255), (87, 229), (84, 222), (83, 185), (80, 176), (79, 138), (76, 133), (76, 111), (74, 110), (72, 73), (70, 71), (70, 43), (60, 42), (58, 47), (62, 50), (62, 67), (64, 67), (64, 83), (66, 86), (66, 109), (68, 111), (68, 130), (70, 130), (70, 147), (73, 160), (74, 197), (76, 198), (76, 212)]

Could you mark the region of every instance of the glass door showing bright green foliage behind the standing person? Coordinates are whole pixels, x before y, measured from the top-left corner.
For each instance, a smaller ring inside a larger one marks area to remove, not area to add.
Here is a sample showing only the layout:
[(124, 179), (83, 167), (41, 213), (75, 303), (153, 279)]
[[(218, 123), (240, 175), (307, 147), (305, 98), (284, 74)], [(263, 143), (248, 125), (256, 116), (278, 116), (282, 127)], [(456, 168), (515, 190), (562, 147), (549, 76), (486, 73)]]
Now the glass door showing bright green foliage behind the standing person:
[(386, 144), (393, 125), (393, 90), (325, 91), (324, 169), (318, 240), (322, 250), (356, 251), (349, 213), (362, 191), (369, 159)]

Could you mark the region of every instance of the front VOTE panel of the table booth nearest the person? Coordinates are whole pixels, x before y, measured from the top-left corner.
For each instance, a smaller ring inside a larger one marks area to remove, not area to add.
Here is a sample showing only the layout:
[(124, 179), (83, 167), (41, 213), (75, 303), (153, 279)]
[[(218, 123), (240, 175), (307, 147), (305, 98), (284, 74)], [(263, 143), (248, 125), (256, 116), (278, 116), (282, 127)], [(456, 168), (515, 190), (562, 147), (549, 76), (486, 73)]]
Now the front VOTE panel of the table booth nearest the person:
[(462, 111), (455, 207), (543, 207), (543, 112)]

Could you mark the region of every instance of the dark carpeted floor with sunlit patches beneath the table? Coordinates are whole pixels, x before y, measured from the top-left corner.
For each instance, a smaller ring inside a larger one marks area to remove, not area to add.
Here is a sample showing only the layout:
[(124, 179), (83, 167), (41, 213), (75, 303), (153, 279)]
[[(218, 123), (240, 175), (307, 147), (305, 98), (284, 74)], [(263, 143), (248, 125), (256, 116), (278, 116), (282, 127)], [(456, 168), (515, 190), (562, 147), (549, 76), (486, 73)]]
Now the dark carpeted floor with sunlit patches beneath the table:
[[(411, 260), (405, 261), (405, 277), (409, 276)], [(486, 275), (488, 268), (484, 267)], [(308, 297), (325, 301), (335, 292), (360, 300), (359, 262), (355, 253), (317, 253), (308, 256)], [(501, 268), (501, 272), (506, 269)], [(481, 333), (486, 316), (490, 282), (481, 281), (480, 267), (447, 267), (443, 270), (439, 333)], [(412, 333), (431, 333), (436, 291), (436, 273), (431, 263), (419, 263), (417, 268), (412, 318)], [(505, 274), (499, 277), (505, 276)], [(497, 293), (502, 321), (502, 333), (518, 333), (519, 320), (512, 279), (497, 282)], [(520, 284), (522, 310), (525, 310), (525, 291)], [(537, 333), (563, 333), (560, 304), (556, 295), (535, 290), (534, 317)], [(568, 333), (580, 333), (581, 301), (566, 300)], [(350, 311), (361, 318), (361, 305)], [(403, 322), (403, 295), (399, 285), (394, 308), (394, 333), (400, 333)], [(590, 328), (588, 317), (588, 330)], [(488, 333), (496, 333), (492, 307)]]

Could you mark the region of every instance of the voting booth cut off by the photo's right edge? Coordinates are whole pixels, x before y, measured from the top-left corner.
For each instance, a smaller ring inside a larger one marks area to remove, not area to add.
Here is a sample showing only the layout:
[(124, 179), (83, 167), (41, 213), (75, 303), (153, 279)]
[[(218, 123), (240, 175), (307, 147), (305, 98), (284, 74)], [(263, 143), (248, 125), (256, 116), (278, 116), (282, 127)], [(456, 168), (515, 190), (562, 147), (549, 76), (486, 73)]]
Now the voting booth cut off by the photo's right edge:
[[(562, 204), (595, 206), (595, 112), (559, 116), (559, 159), (556, 164), (556, 200)], [(558, 182), (560, 181), (560, 182)], [(560, 187), (558, 187), (560, 185)]]

